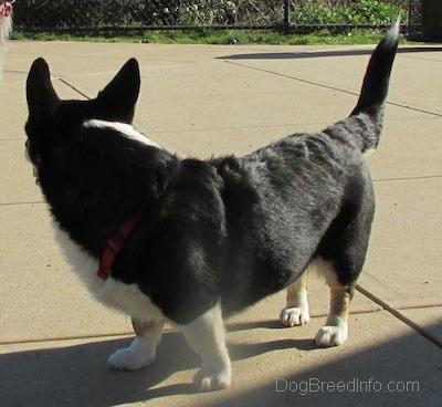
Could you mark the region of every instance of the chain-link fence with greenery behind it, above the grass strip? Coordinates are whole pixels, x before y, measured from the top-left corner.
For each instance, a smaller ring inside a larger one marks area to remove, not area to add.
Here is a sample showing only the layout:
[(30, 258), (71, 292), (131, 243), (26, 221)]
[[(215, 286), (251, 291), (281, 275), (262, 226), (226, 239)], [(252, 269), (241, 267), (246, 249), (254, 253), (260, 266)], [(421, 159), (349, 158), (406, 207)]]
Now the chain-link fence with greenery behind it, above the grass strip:
[(21, 31), (239, 28), (315, 31), (380, 28), (401, 13), (417, 28), (421, 0), (18, 0)]

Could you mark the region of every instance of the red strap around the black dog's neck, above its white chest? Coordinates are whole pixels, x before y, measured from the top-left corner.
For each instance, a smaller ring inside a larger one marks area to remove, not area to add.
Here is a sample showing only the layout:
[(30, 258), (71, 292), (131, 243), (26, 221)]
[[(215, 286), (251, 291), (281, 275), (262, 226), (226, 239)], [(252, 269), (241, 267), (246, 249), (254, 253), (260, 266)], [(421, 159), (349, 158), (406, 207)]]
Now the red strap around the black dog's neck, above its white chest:
[(97, 270), (97, 275), (103, 281), (106, 281), (109, 276), (115, 258), (125, 246), (127, 238), (134, 230), (138, 220), (139, 215), (135, 215), (131, 218), (126, 219), (107, 240), (106, 249), (104, 249), (104, 252), (99, 258), (99, 269)]

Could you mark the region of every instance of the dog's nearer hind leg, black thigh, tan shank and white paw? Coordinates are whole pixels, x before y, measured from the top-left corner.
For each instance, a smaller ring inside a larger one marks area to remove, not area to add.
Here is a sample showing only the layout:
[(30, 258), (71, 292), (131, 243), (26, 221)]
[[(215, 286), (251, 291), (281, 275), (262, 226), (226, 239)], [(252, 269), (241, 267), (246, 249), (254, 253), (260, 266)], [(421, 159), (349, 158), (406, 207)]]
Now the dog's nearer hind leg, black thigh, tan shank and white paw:
[(348, 202), (330, 225), (315, 260), (330, 288), (330, 307), (325, 326), (315, 337), (318, 346), (341, 345), (348, 337), (348, 314), (356, 281), (362, 271), (371, 223), (375, 194), (367, 167), (350, 185)]

